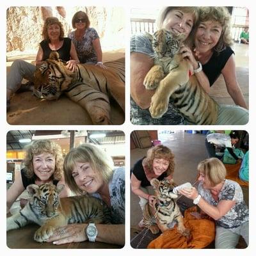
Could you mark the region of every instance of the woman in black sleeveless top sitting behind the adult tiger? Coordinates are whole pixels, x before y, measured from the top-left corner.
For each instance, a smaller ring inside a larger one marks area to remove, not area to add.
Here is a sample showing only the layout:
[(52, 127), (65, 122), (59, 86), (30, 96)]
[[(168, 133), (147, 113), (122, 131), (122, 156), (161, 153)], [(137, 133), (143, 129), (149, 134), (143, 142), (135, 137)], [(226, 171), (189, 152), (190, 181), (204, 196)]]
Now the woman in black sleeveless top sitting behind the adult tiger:
[[(76, 64), (79, 63), (76, 48), (70, 38), (64, 37), (64, 30), (61, 22), (56, 17), (48, 17), (45, 19), (42, 31), (44, 40), (40, 42), (38, 52), (36, 54), (36, 66), (40, 66), (43, 61), (49, 58), (51, 51), (57, 51), (60, 59), (67, 61), (67, 68), (74, 71)], [(23, 78), (33, 82), (33, 75), (36, 66), (24, 60), (15, 60), (12, 63), (10, 72), (6, 77), (6, 110), (10, 110), (10, 97), (12, 93), (19, 90)], [(27, 88), (33, 90), (33, 88)]]

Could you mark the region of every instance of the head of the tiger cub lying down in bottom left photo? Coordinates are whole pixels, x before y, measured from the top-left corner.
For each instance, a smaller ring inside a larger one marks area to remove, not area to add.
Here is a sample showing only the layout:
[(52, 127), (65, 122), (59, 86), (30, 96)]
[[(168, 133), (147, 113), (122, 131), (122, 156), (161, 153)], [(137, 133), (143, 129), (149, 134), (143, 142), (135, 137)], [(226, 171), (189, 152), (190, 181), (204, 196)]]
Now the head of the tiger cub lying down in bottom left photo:
[(26, 189), (31, 195), (29, 205), (40, 218), (51, 218), (56, 214), (59, 205), (59, 194), (64, 185), (55, 186), (45, 183), (40, 186), (29, 185)]

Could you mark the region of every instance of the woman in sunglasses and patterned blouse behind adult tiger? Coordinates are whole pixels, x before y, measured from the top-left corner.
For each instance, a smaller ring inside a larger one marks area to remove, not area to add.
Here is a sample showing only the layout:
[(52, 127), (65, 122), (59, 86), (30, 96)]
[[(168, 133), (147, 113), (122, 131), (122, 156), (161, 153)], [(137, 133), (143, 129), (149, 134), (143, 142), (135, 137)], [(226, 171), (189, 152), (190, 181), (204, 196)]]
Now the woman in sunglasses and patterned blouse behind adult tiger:
[(95, 64), (106, 68), (102, 63), (99, 35), (94, 28), (90, 28), (88, 15), (83, 11), (76, 12), (72, 18), (72, 27), (76, 30), (71, 31), (68, 38), (76, 47), (80, 63)]

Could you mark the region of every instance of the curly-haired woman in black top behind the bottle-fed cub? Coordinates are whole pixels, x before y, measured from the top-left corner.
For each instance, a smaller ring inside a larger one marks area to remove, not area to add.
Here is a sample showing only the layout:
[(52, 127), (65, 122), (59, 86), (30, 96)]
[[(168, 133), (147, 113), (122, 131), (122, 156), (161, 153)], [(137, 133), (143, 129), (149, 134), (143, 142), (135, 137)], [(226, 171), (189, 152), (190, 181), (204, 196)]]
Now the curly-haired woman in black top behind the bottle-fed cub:
[[(168, 179), (173, 182), (173, 172), (175, 168), (174, 155), (170, 148), (164, 145), (156, 145), (147, 152), (147, 157), (143, 157), (134, 164), (131, 170), (131, 190), (140, 198), (140, 207), (143, 211), (147, 202), (152, 205), (155, 196), (150, 195), (150, 180)], [(143, 220), (139, 223), (143, 227)]]

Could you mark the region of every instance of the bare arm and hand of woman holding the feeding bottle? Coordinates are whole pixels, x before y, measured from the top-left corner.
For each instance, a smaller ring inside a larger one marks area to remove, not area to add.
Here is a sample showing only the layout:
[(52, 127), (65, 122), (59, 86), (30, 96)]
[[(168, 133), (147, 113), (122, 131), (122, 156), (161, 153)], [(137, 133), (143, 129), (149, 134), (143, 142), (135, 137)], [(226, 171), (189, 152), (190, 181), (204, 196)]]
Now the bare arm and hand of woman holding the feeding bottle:
[[(196, 188), (192, 188), (192, 190), (188, 189), (180, 189), (179, 193), (181, 195), (186, 196), (187, 198), (194, 200), (199, 194)], [(213, 206), (206, 202), (204, 198), (200, 198), (198, 207), (206, 214), (208, 214), (214, 220), (219, 220), (222, 216), (227, 214), (228, 211), (236, 204), (234, 200), (220, 200), (217, 206)]]

